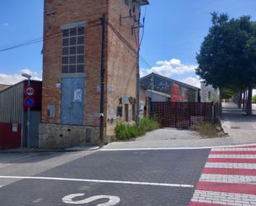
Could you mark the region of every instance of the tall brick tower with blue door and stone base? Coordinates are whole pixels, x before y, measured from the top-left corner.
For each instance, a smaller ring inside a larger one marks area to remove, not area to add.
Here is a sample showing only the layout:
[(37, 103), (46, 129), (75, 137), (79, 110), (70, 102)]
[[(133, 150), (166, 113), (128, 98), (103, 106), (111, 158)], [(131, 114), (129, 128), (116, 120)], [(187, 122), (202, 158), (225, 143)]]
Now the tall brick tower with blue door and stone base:
[(99, 142), (102, 17), (104, 141), (136, 116), (140, 7), (147, 0), (45, 0), (40, 147)]

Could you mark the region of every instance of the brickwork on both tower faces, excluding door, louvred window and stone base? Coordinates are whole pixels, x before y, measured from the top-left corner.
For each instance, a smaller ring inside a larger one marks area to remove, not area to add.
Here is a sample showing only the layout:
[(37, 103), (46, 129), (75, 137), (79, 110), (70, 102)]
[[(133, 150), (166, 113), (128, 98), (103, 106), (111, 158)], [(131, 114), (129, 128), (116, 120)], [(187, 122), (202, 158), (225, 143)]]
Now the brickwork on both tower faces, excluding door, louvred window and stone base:
[[(130, 5), (133, 0), (130, 0)], [(132, 35), (133, 18), (122, 20), (119, 17), (128, 16), (129, 9), (133, 6), (125, 5), (124, 0), (45, 0), (44, 36), (60, 32), (60, 26), (71, 22), (92, 21), (107, 13), (108, 21), (116, 27), (118, 32), (133, 46), (138, 48), (138, 29), (136, 36)], [(136, 7), (138, 18), (139, 7)], [(55, 10), (55, 14), (46, 13)], [(99, 91), (100, 85), (100, 49), (101, 26), (88, 25), (85, 37), (85, 124), (86, 126), (99, 126)], [(105, 111), (116, 116), (118, 99), (123, 96), (136, 98), (136, 74), (137, 56), (123, 41), (107, 26), (106, 42), (106, 88)], [(50, 40), (44, 41), (43, 57), (43, 95), (42, 95), (42, 122), (60, 123), (60, 89), (56, 84), (60, 83), (61, 74), (61, 33)], [(56, 105), (56, 119), (47, 117), (47, 105)], [(124, 107), (123, 107), (124, 108)], [(130, 110), (132, 105), (129, 105)], [(131, 111), (130, 111), (131, 113)], [(114, 121), (115, 122), (115, 121)], [(111, 127), (114, 124), (108, 123)], [(113, 132), (113, 130), (112, 130)], [(110, 132), (111, 133), (111, 132)]]

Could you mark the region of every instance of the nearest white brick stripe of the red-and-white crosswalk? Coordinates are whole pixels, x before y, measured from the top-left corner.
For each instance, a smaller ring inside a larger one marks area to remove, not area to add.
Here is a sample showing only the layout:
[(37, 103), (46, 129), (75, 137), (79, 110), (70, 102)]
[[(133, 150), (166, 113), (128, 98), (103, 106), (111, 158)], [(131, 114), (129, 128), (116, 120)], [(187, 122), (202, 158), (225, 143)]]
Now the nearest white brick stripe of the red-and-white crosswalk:
[[(205, 190), (196, 190), (193, 194), (192, 202), (211, 203), (211, 201), (219, 202), (224, 205), (250, 205), (250, 202), (256, 202), (256, 195), (254, 194), (235, 194), (224, 192), (213, 192)], [(251, 204), (252, 205), (252, 204)]]

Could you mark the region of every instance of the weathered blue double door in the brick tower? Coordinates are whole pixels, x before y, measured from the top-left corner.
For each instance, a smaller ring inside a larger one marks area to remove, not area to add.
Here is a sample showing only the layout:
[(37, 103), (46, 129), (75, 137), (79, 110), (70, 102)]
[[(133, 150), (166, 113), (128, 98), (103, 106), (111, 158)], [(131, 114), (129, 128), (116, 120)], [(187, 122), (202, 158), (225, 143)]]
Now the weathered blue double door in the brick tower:
[(65, 78), (61, 82), (61, 123), (84, 125), (85, 79)]

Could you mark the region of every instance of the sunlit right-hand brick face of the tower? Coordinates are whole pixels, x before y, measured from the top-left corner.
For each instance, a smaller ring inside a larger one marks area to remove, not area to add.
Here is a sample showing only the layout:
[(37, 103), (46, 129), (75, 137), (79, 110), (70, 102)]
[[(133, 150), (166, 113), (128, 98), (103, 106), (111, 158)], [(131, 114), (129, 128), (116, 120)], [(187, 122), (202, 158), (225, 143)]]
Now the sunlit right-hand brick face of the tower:
[[(117, 31), (128, 41), (130, 45), (133, 46), (135, 50), (138, 50), (138, 29), (135, 30), (136, 35), (132, 34), (132, 26), (138, 26), (138, 23), (134, 23), (133, 18), (122, 19), (122, 24), (120, 25), (120, 15), (122, 17), (129, 16), (129, 9), (133, 11), (133, 1), (129, 2), (130, 7), (128, 7), (124, 0), (109, 0), (109, 22), (117, 29)], [(139, 7), (136, 5), (136, 16), (138, 18)], [(126, 46), (123, 41), (120, 41), (118, 36), (114, 31), (108, 27), (108, 89), (113, 89), (113, 91), (108, 91), (108, 105), (107, 105), (107, 116), (116, 116), (118, 108), (118, 99), (127, 97), (136, 97), (136, 74), (138, 58), (137, 55), (133, 53), (132, 50)], [(132, 120), (132, 105), (129, 104), (129, 120)], [(124, 105), (123, 105), (124, 109)], [(109, 121), (107, 128), (107, 135), (114, 134), (115, 122)], [(118, 119), (118, 121), (124, 121), (124, 110), (123, 118)]]

